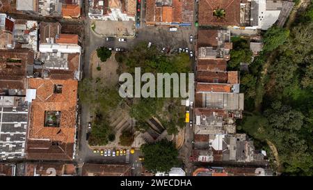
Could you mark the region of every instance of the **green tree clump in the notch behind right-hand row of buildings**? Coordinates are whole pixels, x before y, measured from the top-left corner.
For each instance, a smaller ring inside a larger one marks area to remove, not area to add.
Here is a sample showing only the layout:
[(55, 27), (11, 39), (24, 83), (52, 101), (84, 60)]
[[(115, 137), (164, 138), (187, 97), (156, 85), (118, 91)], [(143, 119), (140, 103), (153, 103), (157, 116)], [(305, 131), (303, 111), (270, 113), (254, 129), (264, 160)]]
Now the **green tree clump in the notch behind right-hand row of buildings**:
[(227, 66), (230, 70), (239, 70), (240, 63), (250, 63), (252, 52), (250, 50), (249, 41), (240, 38), (232, 37), (234, 49), (230, 51), (230, 61)]

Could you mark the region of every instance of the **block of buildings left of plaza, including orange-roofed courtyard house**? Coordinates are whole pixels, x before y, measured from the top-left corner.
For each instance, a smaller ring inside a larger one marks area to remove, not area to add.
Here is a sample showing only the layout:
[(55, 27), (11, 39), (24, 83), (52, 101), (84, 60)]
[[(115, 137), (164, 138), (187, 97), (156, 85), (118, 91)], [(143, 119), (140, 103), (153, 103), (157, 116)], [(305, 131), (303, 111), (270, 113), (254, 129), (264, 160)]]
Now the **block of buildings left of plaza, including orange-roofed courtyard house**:
[(61, 27), (1, 14), (1, 160), (74, 158), (81, 47)]

